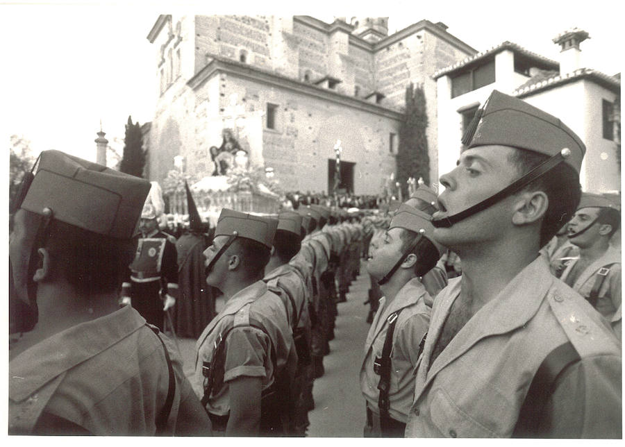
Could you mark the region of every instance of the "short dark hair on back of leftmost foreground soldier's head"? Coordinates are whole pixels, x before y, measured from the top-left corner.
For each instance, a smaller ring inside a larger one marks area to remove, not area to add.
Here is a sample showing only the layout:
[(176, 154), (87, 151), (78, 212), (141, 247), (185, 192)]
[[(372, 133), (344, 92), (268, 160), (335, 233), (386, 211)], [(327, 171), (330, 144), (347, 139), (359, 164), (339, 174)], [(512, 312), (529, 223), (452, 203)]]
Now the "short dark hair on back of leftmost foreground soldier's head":
[(83, 295), (117, 292), (134, 254), (132, 239), (100, 235), (55, 219), (44, 246), (53, 260), (52, 274)]

